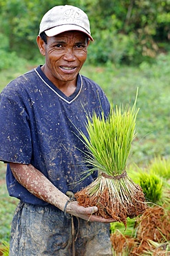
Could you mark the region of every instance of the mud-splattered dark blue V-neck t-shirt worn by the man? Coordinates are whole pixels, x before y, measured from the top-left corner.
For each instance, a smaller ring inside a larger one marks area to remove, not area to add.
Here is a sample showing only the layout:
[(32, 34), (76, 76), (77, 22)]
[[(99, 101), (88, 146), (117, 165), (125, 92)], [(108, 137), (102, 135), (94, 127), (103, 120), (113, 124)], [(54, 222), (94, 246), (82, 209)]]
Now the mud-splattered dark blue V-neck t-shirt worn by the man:
[[(100, 86), (78, 75), (76, 91), (62, 93), (41, 71), (41, 66), (13, 80), (1, 92), (0, 160), (31, 164), (63, 193), (77, 192), (92, 183), (96, 173), (80, 182), (85, 164), (86, 116), (109, 113), (109, 102)], [(47, 205), (20, 185), (8, 165), (10, 196), (25, 203)]]

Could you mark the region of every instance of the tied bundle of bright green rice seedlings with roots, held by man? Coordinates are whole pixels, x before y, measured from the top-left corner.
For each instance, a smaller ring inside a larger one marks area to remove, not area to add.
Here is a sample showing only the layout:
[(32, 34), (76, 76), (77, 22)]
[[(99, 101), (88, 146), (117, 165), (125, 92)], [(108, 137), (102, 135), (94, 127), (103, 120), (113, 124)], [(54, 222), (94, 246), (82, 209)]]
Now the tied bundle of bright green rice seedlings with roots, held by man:
[[(137, 96), (136, 96), (137, 98)], [(94, 182), (75, 194), (79, 205), (98, 207), (99, 216), (113, 218), (126, 226), (127, 217), (136, 217), (147, 209), (142, 188), (126, 172), (131, 142), (136, 136), (136, 100), (131, 108), (111, 107), (109, 116), (96, 113), (87, 117), (87, 133), (82, 141), (87, 147), (88, 174), (98, 171)]]

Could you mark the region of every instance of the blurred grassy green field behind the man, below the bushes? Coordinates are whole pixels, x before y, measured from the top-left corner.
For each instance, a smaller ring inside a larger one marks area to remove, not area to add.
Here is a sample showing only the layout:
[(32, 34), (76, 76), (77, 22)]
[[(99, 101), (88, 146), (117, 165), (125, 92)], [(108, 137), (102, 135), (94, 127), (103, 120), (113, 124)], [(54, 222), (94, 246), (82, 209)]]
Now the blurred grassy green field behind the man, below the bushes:
[[(0, 72), (0, 91), (10, 80), (28, 71), (36, 64), (17, 65)], [(138, 88), (137, 137), (132, 146), (129, 164), (145, 166), (155, 156), (170, 156), (170, 55), (160, 55), (156, 64), (140, 66), (88, 66), (82, 75), (96, 81), (105, 91), (109, 101), (116, 104), (133, 104)], [(5, 166), (0, 165), (0, 241), (9, 240), (10, 221), (17, 200), (8, 196), (5, 184)]]

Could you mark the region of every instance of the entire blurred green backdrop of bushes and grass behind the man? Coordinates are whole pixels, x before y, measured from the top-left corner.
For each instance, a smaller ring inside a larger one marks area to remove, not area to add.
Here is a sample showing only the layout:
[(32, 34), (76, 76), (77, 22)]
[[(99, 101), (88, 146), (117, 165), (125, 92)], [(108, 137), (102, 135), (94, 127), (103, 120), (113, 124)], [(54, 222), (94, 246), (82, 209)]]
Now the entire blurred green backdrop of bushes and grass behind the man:
[[(129, 169), (134, 170), (135, 163), (147, 170), (153, 158), (169, 159), (169, 0), (1, 0), (0, 91), (21, 73), (43, 64), (36, 46), (39, 21), (56, 4), (79, 6), (91, 21), (95, 41), (89, 46), (82, 75), (100, 84), (114, 104), (133, 104), (139, 88), (138, 135)], [(159, 173), (162, 168), (158, 168)], [(17, 199), (8, 196), (5, 173), (6, 166), (1, 163), (0, 243), (9, 241), (10, 221), (17, 204)], [(168, 180), (169, 173), (168, 167)]]

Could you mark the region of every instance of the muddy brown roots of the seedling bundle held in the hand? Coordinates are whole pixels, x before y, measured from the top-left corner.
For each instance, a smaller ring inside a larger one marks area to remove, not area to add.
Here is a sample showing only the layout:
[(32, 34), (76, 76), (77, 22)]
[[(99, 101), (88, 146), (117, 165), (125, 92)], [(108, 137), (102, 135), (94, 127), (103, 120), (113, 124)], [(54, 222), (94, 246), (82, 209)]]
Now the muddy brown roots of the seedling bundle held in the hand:
[[(123, 222), (125, 226), (127, 217), (136, 217), (148, 208), (142, 188), (133, 181), (131, 181), (131, 190), (125, 186), (121, 187), (120, 184), (118, 190), (119, 181), (115, 181), (117, 183), (116, 190), (112, 191), (110, 188), (113, 185), (113, 181), (109, 183), (109, 179), (105, 179), (105, 177), (100, 177), (100, 179), (103, 179), (100, 182), (100, 184), (103, 184), (102, 189), (98, 189), (93, 194), (90, 192), (98, 184), (96, 179), (96, 181), (75, 194), (79, 205), (84, 207), (97, 206), (98, 212), (95, 213), (96, 215), (105, 219), (113, 218), (115, 221)], [(125, 184), (127, 179), (127, 176), (124, 177)], [(106, 180), (107, 183), (105, 183)]]

